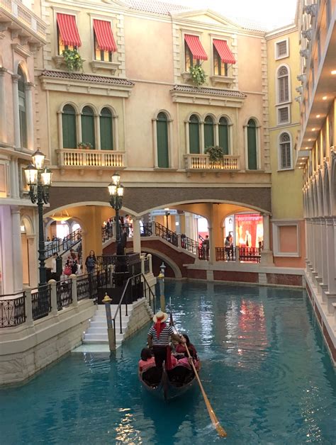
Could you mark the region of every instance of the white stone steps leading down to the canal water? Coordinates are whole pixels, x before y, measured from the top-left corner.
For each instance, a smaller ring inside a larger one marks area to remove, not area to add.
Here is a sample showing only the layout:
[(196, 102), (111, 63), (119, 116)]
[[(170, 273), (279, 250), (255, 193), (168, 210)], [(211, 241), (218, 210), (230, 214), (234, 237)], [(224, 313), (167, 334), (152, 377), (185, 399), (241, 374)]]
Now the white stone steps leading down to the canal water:
[[(116, 314), (118, 305), (111, 305), (112, 318)], [(128, 329), (128, 322), (133, 311), (133, 305), (128, 305), (128, 315), (126, 315), (125, 305), (121, 305), (121, 321), (123, 334), (120, 333), (120, 315), (116, 317), (116, 347), (121, 345)], [(91, 318), (90, 326), (84, 334), (83, 344), (108, 344), (107, 321), (105, 305), (97, 305), (96, 313)]]

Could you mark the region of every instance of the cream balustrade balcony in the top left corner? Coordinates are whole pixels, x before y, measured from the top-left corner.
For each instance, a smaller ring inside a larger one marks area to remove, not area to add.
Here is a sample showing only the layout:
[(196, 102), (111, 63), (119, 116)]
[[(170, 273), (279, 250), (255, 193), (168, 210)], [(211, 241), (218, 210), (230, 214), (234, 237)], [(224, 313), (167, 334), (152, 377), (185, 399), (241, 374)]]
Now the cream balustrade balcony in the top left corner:
[(32, 45), (46, 42), (46, 24), (20, 0), (0, 0), (0, 35), (7, 28), (12, 38), (28, 38)]

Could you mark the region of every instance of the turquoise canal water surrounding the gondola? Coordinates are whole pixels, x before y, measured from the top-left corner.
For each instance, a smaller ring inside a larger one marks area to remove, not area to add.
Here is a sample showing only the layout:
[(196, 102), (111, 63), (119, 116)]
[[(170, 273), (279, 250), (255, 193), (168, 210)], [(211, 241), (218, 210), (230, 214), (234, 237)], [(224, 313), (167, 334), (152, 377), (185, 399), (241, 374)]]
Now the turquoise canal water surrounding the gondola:
[(193, 282), (166, 295), (226, 439), (197, 388), (168, 404), (142, 391), (146, 327), (114, 357), (72, 354), (0, 390), (1, 445), (336, 444), (335, 371), (306, 293)]

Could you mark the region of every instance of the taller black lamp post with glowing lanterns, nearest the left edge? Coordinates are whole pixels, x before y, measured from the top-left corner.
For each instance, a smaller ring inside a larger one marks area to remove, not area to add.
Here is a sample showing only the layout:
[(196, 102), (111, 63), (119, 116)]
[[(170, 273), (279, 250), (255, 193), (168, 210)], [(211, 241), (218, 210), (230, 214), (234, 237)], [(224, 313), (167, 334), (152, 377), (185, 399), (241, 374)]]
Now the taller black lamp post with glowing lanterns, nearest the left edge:
[(38, 204), (38, 260), (40, 261), (40, 283), (47, 282), (45, 271), (45, 237), (43, 229), (43, 204), (49, 201), (52, 172), (43, 167), (45, 155), (37, 150), (32, 156), (32, 163), (25, 169), (26, 182), (29, 186), (30, 201)]

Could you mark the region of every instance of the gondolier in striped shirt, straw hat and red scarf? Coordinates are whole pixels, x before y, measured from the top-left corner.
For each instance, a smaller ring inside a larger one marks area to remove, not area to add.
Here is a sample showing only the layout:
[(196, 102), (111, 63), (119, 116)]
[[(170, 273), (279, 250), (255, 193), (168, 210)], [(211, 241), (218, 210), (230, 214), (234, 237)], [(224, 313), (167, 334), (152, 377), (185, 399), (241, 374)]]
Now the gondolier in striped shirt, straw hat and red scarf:
[[(157, 368), (162, 368), (163, 362), (167, 359), (170, 337), (177, 342), (185, 342), (179, 334), (175, 334), (172, 326), (166, 324), (167, 318), (168, 314), (159, 310), (153, 317), (154, 325), (152, 325), (147, 335), (148, 347), (153, 349)], [(170, 357), (170, 349), (168, 354)]]

